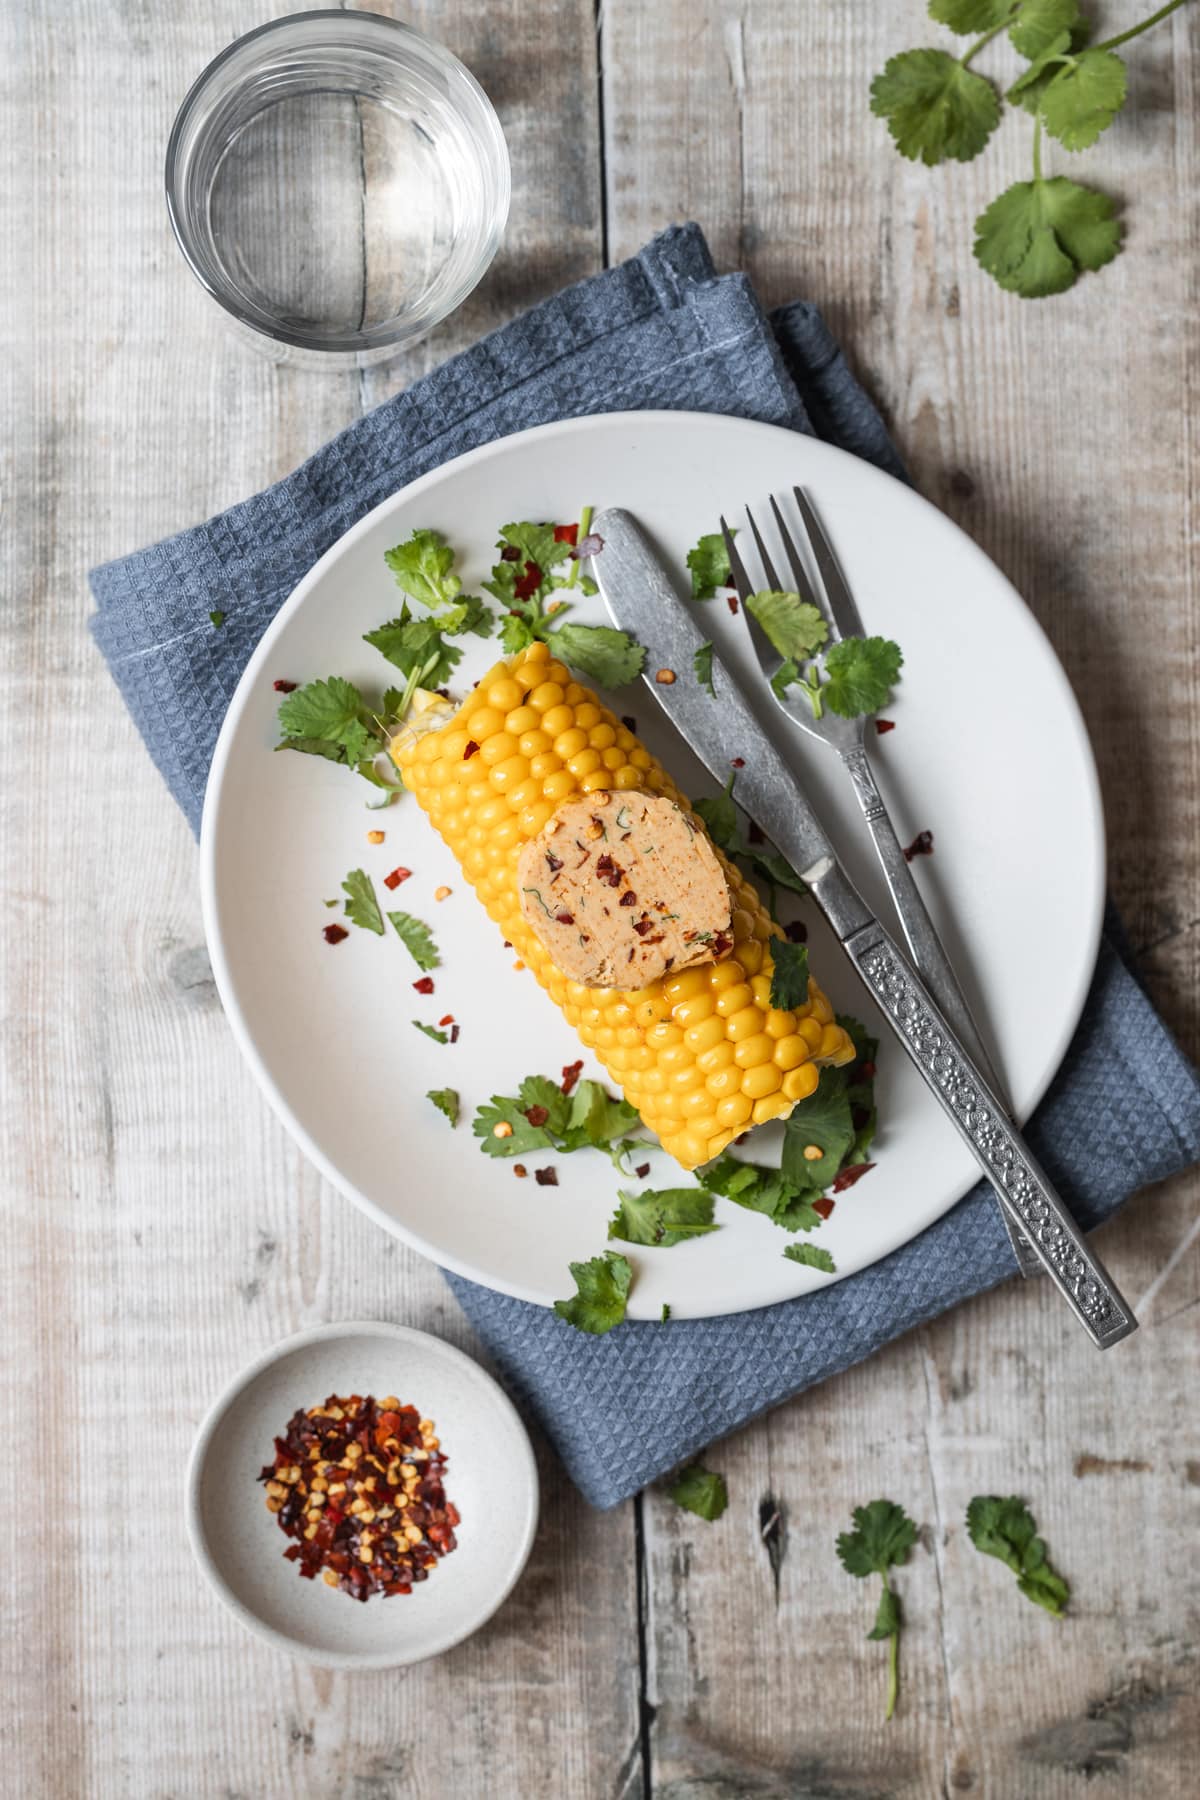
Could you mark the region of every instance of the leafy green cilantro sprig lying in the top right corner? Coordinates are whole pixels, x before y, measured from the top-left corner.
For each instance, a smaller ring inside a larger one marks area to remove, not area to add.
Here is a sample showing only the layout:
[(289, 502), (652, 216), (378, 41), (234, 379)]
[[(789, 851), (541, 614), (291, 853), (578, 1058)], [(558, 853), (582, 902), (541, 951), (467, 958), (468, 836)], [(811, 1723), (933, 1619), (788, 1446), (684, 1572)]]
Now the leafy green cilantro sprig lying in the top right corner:
[(901, 50), (871, 83), (871, 110), (887, 122), (901, 157), (930, 167), (970, 162), (1002, 112), (995, 83), (972, 63), (1000, 32), (1025, 59), (1004, 99), (1034, 117), (1033, 180), (1006, 187), (975, 220), (975, 259), (1009, 293), (1063, 293), (1121, 248), (1114, 202), (1063, 175), (1045, 175), (1042, 135), (1067, 151), (1088, 149), (1124, 106), (1126, 68), (1117, 47), (1184, 4), (1168, 0), (1141, 23), (1092, 45), (1078, 0), (928, 0), (930, 18), (972, 40), (966, 50)]

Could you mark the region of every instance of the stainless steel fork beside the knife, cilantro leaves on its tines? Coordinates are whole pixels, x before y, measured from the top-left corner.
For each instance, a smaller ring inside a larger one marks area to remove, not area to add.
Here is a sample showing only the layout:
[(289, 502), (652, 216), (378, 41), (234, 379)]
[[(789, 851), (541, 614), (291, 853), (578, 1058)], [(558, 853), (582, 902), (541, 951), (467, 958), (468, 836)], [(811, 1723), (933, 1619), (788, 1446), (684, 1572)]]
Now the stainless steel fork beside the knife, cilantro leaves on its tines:
[[(801, 554), (797, 551), (795, 540), (788, 531), (783, 513), (775, 502), (770, 499), (770, 508), (775, 517), (775, 527), (779, 531), (779, 540), (783, 544), (788, 567), (792, 571), (790, 592), (797, 592), (801, 599), (817, 607), (829, 628), (829, 643), (837, 643), (842, 637), (865, 637), (862, 617), (855, 603), (846, 578), (838, 567), (837, 556), (833, 554), (833, 545), (829, 544), (811, 502), (804, 495), (802, 488), (793, 488), (795, 504), (804, 524), (804, 533), (808, 540), (810, 553), (817, 565), (820, 576), (822, 592), (815, 592), (813, 583), (808, 578)], [(747, 508), (747, 520), (750, 524), (750, 533), (754, 536), (754, 545), (763, 565), (763, 574), (770, 589), (784, 589), (786, 583), (779, 580), (775, 565), (772, 563), (770, 551), (763, 542), (763, 535), (757, 527), (754, 513)], [(770, 682), (777, 670), (783, 666), (783, 657), (775, 646), (766, 637), (763, 626), (757, 623), (747, 599), (756, 592), (754, 581), (750, 581), (741, 554), (734, 544), (734, 535), (721, 518), (721, 536), (725, 538), (725, 549), (729, 553), (729, 567), (734, 578), (734, 585), (741, 598), (741, 610), (745, 614), (747, 625), (750, 628), (750, 641), (754, 643), (759, 666)], [(784, 689), (779, 693), (775, 688), (770, 689), (779, 709), (804, 731), (810, 738), (817, 738), (820, 743), (828, 745), (842, 761), (862, 815), (867, 821), (867, 830), (874, 842), (876, 855), (883, 868), (883, 877), (887, 880), (889, 893), (896, 905), (896, 914), (900, 918), (905, 941), (912, 952), (912, 959), (918, 970), (925, 976), (934, 999), (941, 1006), (946, 1021), (954, 1026), (959, 1040), (972, 1053), (981, 1071), (988, 1076), (991, 1089), (1004, 1098), (1004, 1085), (995, 1073), (988, 1049), (979, 1035), (979, 1028), (972, 1017), (972, 1010), (966, 1003), (966, 995), (959, 986), (959, 979), (950, 965), (941, 938), (928, 916), (925, 900), (921, 898), (921, 889), (916, 884), (909, 857), (903, 851), (900, 839), (896, 837), (896, 828), (889, 817), (887, 806), (883, 805), (883, 796), (880, 794), (874, 774), (871, 772), (871, 763), (867, 760), (865, 743), (865, 718), (840, 718), (837, 713), (822, 713), (820, 718), (813, 718), (813, 709), (797, 689), (795, 695), (788, 695)], [(1009, 1109), (1011, 1116), (1011, 1109)], [(1022, 1274), (1040, 1273), (1042, 1264), (1027, 1242), (1027, 1238), (1016, 1229), (1007, 1211), (1004, 1211), (1004, 1224), (1007, 1228), (1009, 1240), (1013, 1244), (1013, 1253), (1020, 1265)]]

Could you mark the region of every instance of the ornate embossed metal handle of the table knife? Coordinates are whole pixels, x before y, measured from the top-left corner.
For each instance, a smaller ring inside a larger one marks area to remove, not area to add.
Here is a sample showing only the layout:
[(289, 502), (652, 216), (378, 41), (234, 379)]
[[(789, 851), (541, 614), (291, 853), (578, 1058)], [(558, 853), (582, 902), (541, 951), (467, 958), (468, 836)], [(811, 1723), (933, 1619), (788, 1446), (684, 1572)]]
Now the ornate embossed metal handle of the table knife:
[(846, 952), (892, 1024), (927, 1087), (954, 1121), (1004, 1206), (1013, 1211), (1067, 1305), (1092, 1341), (1106, 1350), (1137, 1330), (1137, 1319), (1112, 1276), (1088, 1249), (925, 983), (912, 972), (878, 920), (844, 941)]

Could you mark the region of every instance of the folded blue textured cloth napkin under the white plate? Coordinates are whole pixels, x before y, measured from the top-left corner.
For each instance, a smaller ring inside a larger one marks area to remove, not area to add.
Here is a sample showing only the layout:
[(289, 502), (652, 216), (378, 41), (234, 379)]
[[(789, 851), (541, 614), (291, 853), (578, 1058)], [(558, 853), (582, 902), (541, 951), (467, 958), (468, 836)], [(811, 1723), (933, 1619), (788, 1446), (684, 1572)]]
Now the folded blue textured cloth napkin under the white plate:
[[(743, 275), (716, 277), (698, 227), (664, 232), (385, 401), (264, 493), (94, 571), (97, 644), (193, 828), (254, 644), (356, 518), (493, 437), (646, 407), (770, 419), (903, 475), (815, 308), (797, 301), (768, 317)], [(214, 610), (225, 614), (219, 632)], [(1200, 1157), (1200, 1084), (1112, 929), (1029, 1138), (1088, 1228)], [(720, 1319), (628, 1323), (585, 1337), (547, 1309), (448, 1280), (585, 1496), (612, 1507), (712, 1438), (1013, 1271), (1000, 1213), (981, 1183), (871, 1269)], [(1031, 1294), (1029, 1305), (1056, 1301)]]

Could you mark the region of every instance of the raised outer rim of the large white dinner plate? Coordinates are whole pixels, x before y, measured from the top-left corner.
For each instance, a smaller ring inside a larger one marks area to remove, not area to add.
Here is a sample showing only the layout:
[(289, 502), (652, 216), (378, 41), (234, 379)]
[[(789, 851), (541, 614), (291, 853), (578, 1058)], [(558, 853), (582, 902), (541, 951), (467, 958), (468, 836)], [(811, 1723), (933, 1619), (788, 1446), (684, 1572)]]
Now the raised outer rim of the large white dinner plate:
[[(205, 787), (205, 799), (203, 799), (203, 812), (200, 824), (200, 893), (201, 893), (205, 941), (212, 965), (214, 983), (221, 997), (221, 1006), (228, 1019), (230, 1030), (234, 1033), (234, 1040), (237, 1042), (241, 1055), (245, 1057), (250, 1071), (254, 1073), (259, 1089), (266, 1096), (268, 1105), (281, 1120), (284, 1129), (290, 1132), (290, 1136), (295, 1139), (295, 1143), (300, 1147), (308, 1161), (326, 1177), (326, 1181), (329, 1181), (331, 1186), (338, 1190), (338, 1193), (344, 1193), (349, 1201), (353, 1201), (383, 1231), (401, 1238), (401, 1242), (410, 1244), (412, 1249), (426, 1256), (441, 1269), (448, 1269), (450, 1273), (462, 1276), (468, 1282), (489, 1287), (493, 1292), (504, 1292), (515, 1300), (524, 1300), (538, 1307), (545, 1305), (545, 1296), (540, 1289), (522, 1285), (520, 1282), (497, 1282), (486, 1271), (471, 1265), (466, 1258), (450, 1255), (444, 1249), (435, 1247), (419, 1231), (403, 1224), (401, 1220), (396, 1219), (394, 1213), (389, 1213), (381, 1206), (378, 1206), (367, 1193), (363, 1193), (345, 1175), (342, 1175), (336, 1165), (317, 1147), (317, 1143), (309, 1136), (308, 1129), (304, 1127), (297, 1112), (279, 1093), (270, 1071), (266, 1069), (257, 1051), (246, 1017), (236, 999), (234, 979), (228, 968), (228, 961), (225, 958), (221, 932), (218, 929), (216, 841), (218, 841), (219, 796), (241, 713), (248, 704), (255, 680), (259, 679), (263, 668), (270, 662), (275, 639), (282, 634), (291, 616), (299, 612), (299, 608), (304, 605), (309, 590), (315, 589), (326, 578), (327, 571), (353, 544), (358, 542), (358, 538), (365, 536), (369, 531), (376, 527), (381, 517), (385, 517), (390, 509), (401, 504), (405, 506), (410, 504), (426, 488), (437, 486), (448, 475), (457, 473), (459, 470), (473, 468), (479, 463), (488, 463), (489, 459), (502, 455), (506, 450), (511, 450), (515, 445), (525, 443), (529, 439), (552, 441), (561, 436), (574, 436), (576, 432), (604, 430), (613, 427), (633, 428), (635, 425), (642, 423), (649, 423), (651, 428), (664, 425), (678, 427), (680, 419), (687, 421), (687, 428), (700, 428), (700, 430), (705, 428), (720, 430), (721, 427), (727, 425), (739, 425), (752, 428), (756, 432), (770, 432), (781, 439), (781, 448), (790, 445), (793, 450), (795, 450), (795, 441), (801, 436), (790, 427), (775, 425), (774, 421), (750, 419), (736, 414), (689, 412), (684, 409), (596, 412), (596, 414), (585, 414), (583, 418), (554, 419), (545, 425), (533, 425), (524, 430), (511, 432), (504, 437), (489, 439), (486, 445), (477, 445), (475, 448), (466, 450), (457, 457), (450, 457), (446, 463), (441, 463), (435, 468), (426, 470), (423, 475), (417, 475), (416, 481), (410, 481), (403, 488), (398, 488), (394, 493), (387, 495), (374, 508), (371, 508), (369, 513), (365, 513), (347, 531), (344, 531), (342, 536), (335, 544), (331, 544), (329, 549), (326, 549), (320, 554), (320, 558), (313, 563), (313, 567), (297, 581), (288, 599), (279, 607), (270, 625), (266, 626), (263, 637), (255, 644), (241, 673), (237, 688), (234, 689), (234, 695), (228, 702), (225, 718), (221, 722), (221, 731), (218, 734), (218, 742), (212, 752), (212, 761), (209, 767), (209, 781)], [(804, 437), (802, 443), (806, 454), (815, 454), (819, 459), (826, 455), (831, 457), (835, 463), (851, 464), (858, 473), (869, 470), (873, 477), (883, 481), (896, 481), (896, 477), (889, 475), (885, 470), (880, 470), (876, 464), (865, 463), (862, 457), (855, 455), (849, 450), (842, 450), (838, 445), (826, 443), (824, 439), (819, 437)], [(905, 488), (912, 502), (932, 517), (932, 520), (936, 522), (936, 529), (954, 535), (961, 542), (963, 551), (968, 556), (973, 556), (982, 567), (986, 567), (990, 578), (997, 583), (997, 592), (1000, 590), (1006, 592), (1007, 601), (1013, 607), (1020, 608), (1020, 612), (1025, 616), (1027, 625), (1033, 626), (1033, 632), (1036, 634), (1045, 650), (1047, 670), (1052, 673), (1058, 684), (1060, 702), (1061, 702), (1061, 722), (1065, 727), (1070, 729), (1076, 752), (1079, 754), (1079, 767), (1083, 772), (1085, 794), (1081, 797), (1087, 806), (1087, 828), (1088, 828), (1087, 835), (1092, 846), (1092, 859), (1090, 859), (1090, 880), (1087, 884), (1088, 911), (1085, 918), (1076, 920), (1076, 936), (1083, 940), (1087, 954), (1079, 959), (1079, 974), (1076, 988), (1070, 995), (1070, 1003), (1063, 1006), (1058, 1037), (1052, 1044), (1052, 1049), (1047, 1053), (1042, 1076), (1033, 1085), (1031, 1098), (1027, 1105), (1022, 1109), (1020, 1118), (1024, 1121), (1024, 1118), (1027, 1118), (1040, 1105), (1051, 1082), (1054, 1080), (1058, 1069), (1061, 1067), (1063, 1057), (1067, 1053), (1070, 1039), (1074, 1037), (1076, 1026), (1083, 1013), (1083, 1006), (1087, 1003), (1087, 995), (1092, 985), (1092, 976), (1096, 970), (1096, 959), (1099, 954), (1099, 940), (1105, 918), (1105, 895), (1106, 895), (1106, 835), (1105, 835), (1105, 812), (1103, 812), (1099, 772), (1096, 769), (1096, 756), (1092, 752), (1092, 743), (1088, 738), (1087, 724), (1083, 720), (1083, 711), (1079, 707), (1076, 693), (1070, 686), (1067, 671), (1061, 666), (1058, 652), (1054, 650), (1045, 628), (1042, 626), (1033, 608), (1027, 605), (1027, 601), (1022, 598), (1016, 587), (1013, 587), (1004, 571), (999, 569), (999, 565), (988, 556), (988, 553), (982, 551), (979, 544), (975, 544), (975, 540), (959, 524), (955, 524), (955, 520), (952, 520), (946, 513), (943, 513), (941, 508), (934, 506), (934, 502), (928, 500), (923, 493), (919, 493), (916, 488), (909, 488), (905, 482), (898, 482), (898, 486)], [(957, 1202), (972, 1190), (972, 1186), (975, 1186), (977, 1179), (979, 1179), (977, 1175), (970, 1175), (961, 1186), (961, 1190), (952, 1199), (946, 1201), (946, 1206), (937, 1215), (937, 1219), (945, 1219), (946, 1213), (950, 1213), (952, 1208), (957, 1206)], [(937, 1219), (932, 1222), (936, 1224)], [(921, 1229), (928, 1229), (928, 1226), (921, 1226), (916, 1231), (910, 1231), (905, 1237), (898, 1238), (898, 1242), (889, 1244), (876, 1256), (873, 1256), (871, 1262), (862, 1264), (858, 1269), (847, 1271), (846, 1274), (838, 1273), (833, 1278), (833, 1282), (849, 1280), (853, 1274), (862, 1273), (862, 1269), (873, 1267), (876, 1262), (883, 1260), (887, 1255), (892, 1255), (903, 1244), (909, 1244), (916, 1237), (919, 1237)], [(797, 1271), (797, 1274), (804, 1273), (808, 1271)], [(833, 1283), (826, 1282), (824, 1285), (833, 1285)], [(806, 1291), (824, 1291), (824, 1289), (806, 1289)], [(804, 1298), (804, 1292), (797, 1292), (795, 1298)], [(774, 1303), (777, 1301), (759, 1301), (757, 1305), (774, 1305)], [(712, 1310), (707, 1314), (693, 1314), (693, 1316), (720, 1318), (730, 1310), (752, 1312), (757, 1310), (757, 1305), (750, 1307), (736, 1305), (732, 1309)]]

